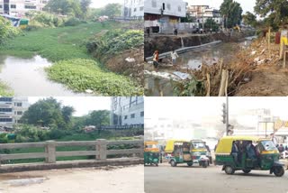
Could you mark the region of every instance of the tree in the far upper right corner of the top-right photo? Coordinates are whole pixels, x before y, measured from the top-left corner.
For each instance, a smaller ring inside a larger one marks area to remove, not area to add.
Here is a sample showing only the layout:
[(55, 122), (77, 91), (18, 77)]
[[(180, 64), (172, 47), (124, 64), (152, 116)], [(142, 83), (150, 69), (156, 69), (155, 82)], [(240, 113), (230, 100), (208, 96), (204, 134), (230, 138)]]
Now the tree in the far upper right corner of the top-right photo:
[(266, 17), (270, 25), (288, 23), (287, 0), (257, 0), (254, 11), (261, 17)]

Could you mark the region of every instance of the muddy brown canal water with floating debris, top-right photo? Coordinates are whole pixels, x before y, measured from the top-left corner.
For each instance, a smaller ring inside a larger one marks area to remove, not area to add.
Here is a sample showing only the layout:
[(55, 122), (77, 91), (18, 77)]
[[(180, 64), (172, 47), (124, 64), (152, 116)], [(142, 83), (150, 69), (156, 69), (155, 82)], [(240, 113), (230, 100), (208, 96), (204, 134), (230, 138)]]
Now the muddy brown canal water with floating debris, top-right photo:
[[(184, 71), (184, 69), (202, 69), (202, 63), (212, 65), (217, 63), (220, 59), (223, 59), (224, 62), (231, 60), (234, 53), (238, 51), (240, 47), (245, 48), (249, 46), (250, 43), (251, 40), (247, 39), (240, 43), (221, 43), (216, 46), (207, 46), (197, 51), (187, 51), (183, 54), (179, 54), (176, 63), (181, 71)], [(148, 68), (145, 69), (148, 71), (154, 70), (152, 65), (148, 65)], [(175, 68), (160, 68), (158, 71), (173, 74), (175, 70)], [(145, 75), (145, 96), (175, 96), (173, 82), (168, 78)]]

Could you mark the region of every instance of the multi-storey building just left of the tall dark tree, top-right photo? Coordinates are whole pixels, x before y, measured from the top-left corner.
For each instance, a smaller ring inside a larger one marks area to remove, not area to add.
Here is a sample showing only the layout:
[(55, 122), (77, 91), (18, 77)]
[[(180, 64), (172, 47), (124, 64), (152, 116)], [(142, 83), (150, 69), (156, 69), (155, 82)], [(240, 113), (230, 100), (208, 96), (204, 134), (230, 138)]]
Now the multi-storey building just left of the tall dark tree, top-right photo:
[(220, 11), (209, 5), (190, 5), (187, 8), (187, 15), (194, 18), (197, 23), (205, 23), (208, 19), (212, 19), (218, 24), (222, 24), (223, 21)]

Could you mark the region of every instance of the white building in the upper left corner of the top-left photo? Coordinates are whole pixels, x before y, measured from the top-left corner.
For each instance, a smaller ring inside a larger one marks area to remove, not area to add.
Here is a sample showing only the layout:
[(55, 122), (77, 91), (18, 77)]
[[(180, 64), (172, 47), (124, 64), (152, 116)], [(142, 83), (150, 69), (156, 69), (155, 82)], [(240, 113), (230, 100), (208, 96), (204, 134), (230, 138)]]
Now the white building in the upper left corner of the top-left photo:
[(42, 11), (49, 0), (0, 0), (0, 14), (22, 17), (26, 12)]

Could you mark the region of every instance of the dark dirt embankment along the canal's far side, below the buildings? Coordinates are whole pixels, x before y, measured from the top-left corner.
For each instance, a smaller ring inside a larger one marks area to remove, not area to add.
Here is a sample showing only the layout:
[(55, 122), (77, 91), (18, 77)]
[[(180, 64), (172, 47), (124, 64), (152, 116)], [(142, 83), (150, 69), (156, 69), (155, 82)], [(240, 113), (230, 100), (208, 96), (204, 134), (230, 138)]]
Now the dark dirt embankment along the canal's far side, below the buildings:
[[(179, 36), (146, 36), (144, 41), (144, 56), (145, 58), (152, 56), (154, 51), (159, 51), (160, 53), (173, 51), (182, 48), (182, 41), (184, 47), (198, 46), (211, 41), (224, 41), (224, 42), (237, 42), (243, 40), (247, 36), (254, 35), (254, 32), (233, 32), (230, 33), (212, 33), (212, 34), (188, 34)], [(182, 40), (181, 40), (182, 39)]]

